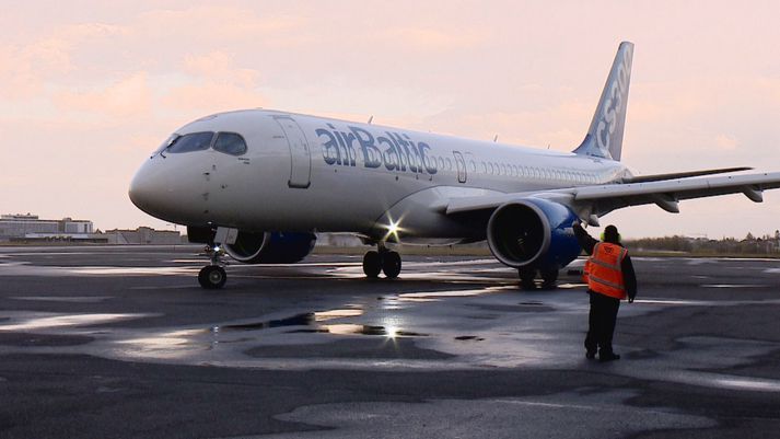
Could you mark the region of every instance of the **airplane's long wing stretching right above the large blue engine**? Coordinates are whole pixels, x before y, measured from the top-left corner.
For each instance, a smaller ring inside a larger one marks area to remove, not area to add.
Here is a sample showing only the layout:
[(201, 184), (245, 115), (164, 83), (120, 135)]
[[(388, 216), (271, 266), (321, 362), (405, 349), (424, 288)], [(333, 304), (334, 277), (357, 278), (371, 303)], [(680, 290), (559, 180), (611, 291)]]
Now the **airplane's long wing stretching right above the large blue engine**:
[(544, 192), (500, 194), (484, 197), (451, 198), (446, 213), (494, 209), (504, 203), (525, 197), (542, 197), (566, 204), (582, 211), (602, 216), (628, 206), (655, 204), (670, 212), (678, 212), (678, 201), (691, 198), (744, 194), (753, 201), (764, 200), (762, 192), (780, 187), (780, 172), (729, 175), (707, 178), (674, 178), (659, 182), (579, 186)]

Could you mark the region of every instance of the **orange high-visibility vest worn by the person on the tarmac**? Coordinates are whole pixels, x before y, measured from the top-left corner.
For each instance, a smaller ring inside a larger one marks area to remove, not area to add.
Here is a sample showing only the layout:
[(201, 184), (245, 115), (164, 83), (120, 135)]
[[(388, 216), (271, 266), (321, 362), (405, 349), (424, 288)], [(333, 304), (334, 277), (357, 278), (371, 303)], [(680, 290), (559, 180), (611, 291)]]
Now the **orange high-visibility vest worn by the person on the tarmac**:
[(626, 255), (628, 251), (617, 244), (597, 243), (586, 264), (587, 288), (615, 299), (626, 299), (626, 284), (622, 281), (620, 268)]

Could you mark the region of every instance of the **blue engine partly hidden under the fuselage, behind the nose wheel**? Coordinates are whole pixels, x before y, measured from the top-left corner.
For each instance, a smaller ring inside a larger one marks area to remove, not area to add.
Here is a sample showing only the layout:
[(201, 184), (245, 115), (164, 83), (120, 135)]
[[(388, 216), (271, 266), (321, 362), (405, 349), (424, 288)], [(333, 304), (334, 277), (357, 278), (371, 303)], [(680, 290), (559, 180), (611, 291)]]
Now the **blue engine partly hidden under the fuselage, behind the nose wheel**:
[(314, 233), (240, 231), (235, 243), (224, 249), (245, 264), (293, 264), (312, 253), (316, 241)]

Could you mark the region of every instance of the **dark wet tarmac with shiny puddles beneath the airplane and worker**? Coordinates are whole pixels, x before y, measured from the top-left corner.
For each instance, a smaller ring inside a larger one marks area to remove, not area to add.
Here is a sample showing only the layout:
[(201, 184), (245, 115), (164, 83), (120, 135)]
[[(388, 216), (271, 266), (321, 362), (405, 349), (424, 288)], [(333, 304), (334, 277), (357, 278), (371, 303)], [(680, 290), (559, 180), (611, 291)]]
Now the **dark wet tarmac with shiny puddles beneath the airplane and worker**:
[[(0, 247), (0, 438), (733, 438), (780, 431), (780, 261), (643, 258), (622, 358), (577, 275), (491, 258), (228, 266), (198, 246)], [(577, 263), (575, 263), (577, 264)]]

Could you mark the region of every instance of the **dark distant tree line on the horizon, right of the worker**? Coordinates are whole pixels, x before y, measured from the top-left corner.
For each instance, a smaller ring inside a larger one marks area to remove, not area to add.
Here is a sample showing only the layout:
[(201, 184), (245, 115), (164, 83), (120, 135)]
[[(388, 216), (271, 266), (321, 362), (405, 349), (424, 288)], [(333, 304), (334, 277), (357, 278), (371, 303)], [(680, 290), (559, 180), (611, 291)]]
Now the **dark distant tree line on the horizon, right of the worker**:
[(742, 239), (663, 236), (626, 240), (626, 246), (639, 252), (676, 252), (702, 255), (780, 255), (780, 231), (775, 234), (755, 236), (753, 233)]

